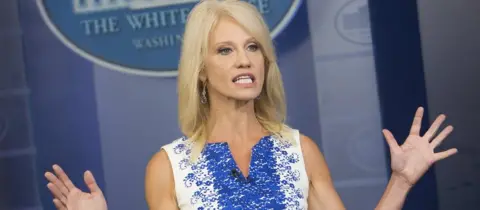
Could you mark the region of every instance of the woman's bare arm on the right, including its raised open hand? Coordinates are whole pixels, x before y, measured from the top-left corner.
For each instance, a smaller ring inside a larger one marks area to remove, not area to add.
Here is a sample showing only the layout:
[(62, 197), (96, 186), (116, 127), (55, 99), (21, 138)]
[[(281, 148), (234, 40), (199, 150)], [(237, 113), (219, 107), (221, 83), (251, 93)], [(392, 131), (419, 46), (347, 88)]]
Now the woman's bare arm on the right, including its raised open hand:
[[(410, 133), (402, 145), (397, 144), (393, 134), (383, 129), (385, 140), (390, 148), (392, 176), (387, 188), (375, 209), (402, 209), (408, 192), (435, 162), (448, 158), (458, 152), (452, 148), (442, 152), (434, 149), (453, 131), (447, 126), (437, 134), (445, 120), (439, 115), (425, 134), (420, 135), (423, 107), (415, 113)], [(310, 180), (309, 204), (315, 209), (344, 209), (335, 192), (325, 160), (317, 145), (308, 137), (301, 135), (302, 151)]]

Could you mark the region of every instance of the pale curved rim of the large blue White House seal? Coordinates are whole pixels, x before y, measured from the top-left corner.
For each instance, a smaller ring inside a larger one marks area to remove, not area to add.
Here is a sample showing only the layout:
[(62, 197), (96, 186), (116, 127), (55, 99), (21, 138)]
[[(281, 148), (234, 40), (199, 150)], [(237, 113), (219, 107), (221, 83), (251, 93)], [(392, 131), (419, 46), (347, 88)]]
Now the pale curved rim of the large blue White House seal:
[[(96, 56), (93, 56), (85, 50), (81, 49), (78, 47), (76, 44), (74, 44), (72, 41), (67, 39), (67, 37), (57, 28), (57, 26), (50, 20), (50, 17), (46, 11), (45, 5), (43, 4), (43, 0), (36, 0), (37, 7), (40, 11), (40, 15), (42, 16), (43, 21), (47, 25), (47, 27), (50, 29), (50, 31), (53, 32), (53, 34), (60, 39), (60, 41), (65, 44), (68, 48), (73, 50), (75, 53), (80, 55), (83, 58), (86, 58), (87, 60), (93, 62), (94, 64), (98, 64), (99, 66), (102, 66), (104, 68), (108, 68), (111, 70), (119, 71), (122, 73), (127, 73), (127, 74), (132, 74), (132, 75), (137, 75), (137, 76), (147, 76), (147, 77), (176, 77), (178, 75), (178, 69), (176, 70), (164, 70), (164, 71), (145, 71), (141, 69), (135, 69), (135, 68), (129, 68), (125, 66), (121, 66), (118, 64), (113, 64), (110, 62), (106, 62)], [(270, 36), (272, 39), (275, 39), (286, 27), (287, 25), (292, 21), (293, 17), (297, 13), (298, 9), (300, 8), (301, 3), (303, 3), (303, 0), (293, 0), (292, 6), (288, 10), (288, 12), (283, 16), (282, 20), (277, 24), (277, 26), (270, 31)]]

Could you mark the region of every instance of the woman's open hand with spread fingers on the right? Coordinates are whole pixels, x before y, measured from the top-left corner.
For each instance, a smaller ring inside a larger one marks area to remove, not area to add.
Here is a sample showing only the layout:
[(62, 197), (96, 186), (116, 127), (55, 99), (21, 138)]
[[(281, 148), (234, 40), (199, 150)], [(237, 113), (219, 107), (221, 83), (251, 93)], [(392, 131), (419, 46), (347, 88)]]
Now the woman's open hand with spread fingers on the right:
[(423, 112), (422, 107), (417, 109), (410, 134), (401, 146), (397, 144), (389, 130), (383, 130), (390, 147), (392, 176), (401, 178), (409, 186), (413, 186), (433, 163), (457, 153), (456, 148), (434, 152), (434, 149), (453, 131), (452, 126), (447, 126), (436, 135), (445, 120), (445, 115), (439, 115), (427, 132), (420, 136)]

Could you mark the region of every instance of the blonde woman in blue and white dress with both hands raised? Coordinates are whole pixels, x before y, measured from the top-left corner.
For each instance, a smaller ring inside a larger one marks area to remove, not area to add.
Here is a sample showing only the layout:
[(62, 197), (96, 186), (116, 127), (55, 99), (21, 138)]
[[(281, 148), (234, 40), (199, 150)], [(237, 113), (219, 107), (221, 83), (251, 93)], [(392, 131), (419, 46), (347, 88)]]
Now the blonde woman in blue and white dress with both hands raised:
[[(317, 145), (285, 125), (284, 92), (269, 29), (252, 5), (206, 0), (186, 24), (179, 76), (179, 121), (185, 137), (165, 145), (146, 169), (146, 200), (164, 209), (344, 209)], [(433, 149), (440, 115), (420, 136), (423, 109), (399, 146), (388, 130), (392, 176), (378, 209), (400, 209), (434, 162), (456, 149)], [(431, 141), (433, 139), (433, 141)], [(58, 209), (104, 210), (91, 172), (81, 192), (55, 165), (48, 188)]]

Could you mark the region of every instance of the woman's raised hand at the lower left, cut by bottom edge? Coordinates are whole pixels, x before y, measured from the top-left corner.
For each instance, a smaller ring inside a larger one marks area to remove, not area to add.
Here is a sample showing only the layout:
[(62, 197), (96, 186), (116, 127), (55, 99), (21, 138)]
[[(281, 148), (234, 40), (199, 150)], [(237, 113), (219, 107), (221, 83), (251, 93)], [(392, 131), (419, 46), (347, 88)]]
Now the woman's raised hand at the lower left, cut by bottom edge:
[(53, 171), (55, 174), (46, 172), (45, 177), (49, 181), (47, 187), (54, 196), (53, 203), (58, 210), (107, 210), (107, 201), (90, 171), (84, 174), (90, 193), (75, 187), (60, 166), (53, 165)]

